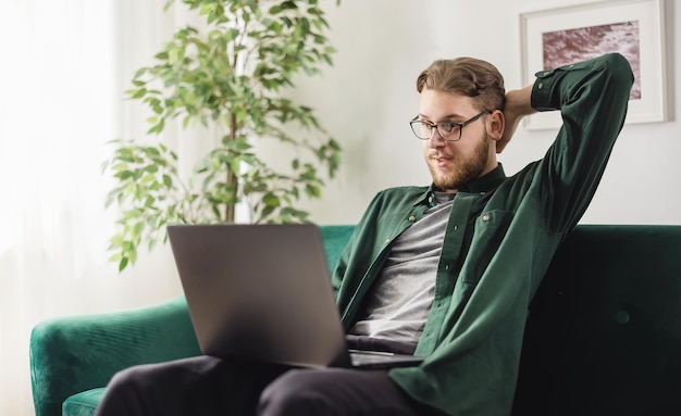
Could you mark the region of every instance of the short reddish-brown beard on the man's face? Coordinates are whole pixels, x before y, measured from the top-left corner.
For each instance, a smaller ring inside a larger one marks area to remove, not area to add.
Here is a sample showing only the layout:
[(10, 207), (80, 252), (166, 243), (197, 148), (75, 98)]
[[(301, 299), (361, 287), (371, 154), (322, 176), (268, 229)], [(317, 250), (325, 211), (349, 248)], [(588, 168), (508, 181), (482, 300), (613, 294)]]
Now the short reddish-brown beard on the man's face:
[(485, 133), (482, 140), (473, 148), (472, 154), (463, 155), (456, 153), (451, 155), (451, 169), (444, 171), (434, 165), (430, 159), (439, 152), (430, 153), (426, 156), (428, 168), (431, 171), (433, 184), (443, 191), (456, 190), (471, 179), (479, 178), (487, 166), (490, 160), (490, 140)]

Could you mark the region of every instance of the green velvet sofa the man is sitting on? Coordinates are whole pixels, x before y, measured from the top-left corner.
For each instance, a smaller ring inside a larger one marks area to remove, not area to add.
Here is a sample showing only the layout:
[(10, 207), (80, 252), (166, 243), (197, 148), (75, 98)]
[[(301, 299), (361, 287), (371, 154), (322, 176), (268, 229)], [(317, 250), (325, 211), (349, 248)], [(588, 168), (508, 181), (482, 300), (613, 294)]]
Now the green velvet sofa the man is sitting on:
[[(352, 226), (320, 229), (333, 265)], [(182, 297), (40, 323), (36, 416), (92, 415), (115, 371), (197, 354)], [(513, 415), (681, 415), (681, 226), (577, 227), (530, 306)]]

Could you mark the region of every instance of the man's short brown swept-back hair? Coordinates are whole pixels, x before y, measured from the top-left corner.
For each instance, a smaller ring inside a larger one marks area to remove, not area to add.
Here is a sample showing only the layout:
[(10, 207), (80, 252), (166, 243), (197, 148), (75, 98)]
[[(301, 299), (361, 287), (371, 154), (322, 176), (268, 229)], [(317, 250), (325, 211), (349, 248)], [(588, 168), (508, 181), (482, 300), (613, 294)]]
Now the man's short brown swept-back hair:
[(506, 90), (502, 73), (488, 62), (474, 58), (437, 60), (417, 78), (417, 90), (423, 88), (470, 97), (478, 110), (504, 110)]

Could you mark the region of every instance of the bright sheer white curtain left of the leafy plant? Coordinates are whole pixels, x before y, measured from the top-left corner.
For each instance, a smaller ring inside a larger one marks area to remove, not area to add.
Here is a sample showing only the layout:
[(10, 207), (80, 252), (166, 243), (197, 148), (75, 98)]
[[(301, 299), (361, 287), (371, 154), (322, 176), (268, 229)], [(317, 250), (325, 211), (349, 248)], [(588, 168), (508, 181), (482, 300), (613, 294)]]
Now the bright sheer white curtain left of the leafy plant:
[[(28, 339), (39, 320), (181, 292), (168, 248), (120, 275), (108, 262), (104, 144), (147, 128), (123, 91), (183, 11), (165, 0), (0, 4), (0, 414), (33, 415)], [(181, 149), (182, 150), (182, 149)]]

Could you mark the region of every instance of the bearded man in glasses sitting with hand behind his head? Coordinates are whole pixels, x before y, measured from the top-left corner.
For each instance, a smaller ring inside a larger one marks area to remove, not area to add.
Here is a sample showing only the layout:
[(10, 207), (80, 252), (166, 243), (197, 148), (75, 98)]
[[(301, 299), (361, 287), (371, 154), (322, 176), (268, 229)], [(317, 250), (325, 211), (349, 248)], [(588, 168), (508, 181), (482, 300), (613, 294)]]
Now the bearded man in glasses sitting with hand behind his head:
[[(508, 415), (528, 305), (591, 201), (633, 76), (619, 54), (505, 92), (491, 64), (436, 61), (417, 79), (430, 187), (380, 192), (333, 286), (348, 342), (425, 357), (391, 370), (196, 357), (114, 377), (98, 415)], [(506, 177), (520, 119), (560, 110), (546, 155)]]

